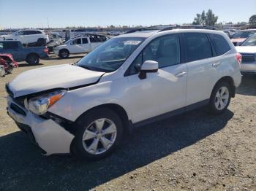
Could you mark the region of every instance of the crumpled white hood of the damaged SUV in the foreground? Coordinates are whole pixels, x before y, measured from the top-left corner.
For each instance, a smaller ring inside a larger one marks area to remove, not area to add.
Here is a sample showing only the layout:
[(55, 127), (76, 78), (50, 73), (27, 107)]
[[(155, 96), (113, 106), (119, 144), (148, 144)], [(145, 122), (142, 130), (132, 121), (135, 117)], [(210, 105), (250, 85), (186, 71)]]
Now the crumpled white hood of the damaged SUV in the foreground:
[(95, 83), (105, 72), (91, 71), (70, 64), (25, 71), (9, 84), (14, 97), (55, 88), (70, 88)]

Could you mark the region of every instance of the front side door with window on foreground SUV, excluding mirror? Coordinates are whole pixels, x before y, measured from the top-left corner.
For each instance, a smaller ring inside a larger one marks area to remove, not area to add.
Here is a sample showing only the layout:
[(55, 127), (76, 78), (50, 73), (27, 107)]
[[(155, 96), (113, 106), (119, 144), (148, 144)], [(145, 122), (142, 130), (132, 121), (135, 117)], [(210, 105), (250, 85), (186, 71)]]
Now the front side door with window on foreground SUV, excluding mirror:
[[(162, 36), (151, 41), (129, 67), (129, 103), (132, 122), (184, 108), (186, 102), (187, 66), (181, 63), (178, 35)], [(138, 77), (144, 61), (157, 61), (157, 73)]]

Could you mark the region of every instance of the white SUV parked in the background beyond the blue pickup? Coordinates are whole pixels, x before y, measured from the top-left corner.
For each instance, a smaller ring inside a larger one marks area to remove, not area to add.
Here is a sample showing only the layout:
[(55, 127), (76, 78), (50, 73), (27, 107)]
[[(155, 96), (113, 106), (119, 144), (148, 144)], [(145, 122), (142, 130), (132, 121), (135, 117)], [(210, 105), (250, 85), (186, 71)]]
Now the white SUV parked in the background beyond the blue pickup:
[(26, 29), (15, 31), (14, 33), (9, 35), (1, 35), (0, 40), (17, 40), (20, 41), (22, 44), (43, 44), (49, 42), (49, 37), (42, 30)]

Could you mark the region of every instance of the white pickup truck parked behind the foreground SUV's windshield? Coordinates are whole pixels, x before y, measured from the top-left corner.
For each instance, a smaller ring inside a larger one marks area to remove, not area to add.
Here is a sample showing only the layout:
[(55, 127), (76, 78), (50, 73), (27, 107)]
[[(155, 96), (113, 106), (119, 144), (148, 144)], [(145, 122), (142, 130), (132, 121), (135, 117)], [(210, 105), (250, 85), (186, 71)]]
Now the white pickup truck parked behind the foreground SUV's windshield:
[(53, 48), (53, 52), (60, 58), (68, 58), (70, 54), (89, 53), (99, 45), (103, 44), (107, 38), (94, 38), (93, 36), (77, 37), (69, 39), (65, 44)]

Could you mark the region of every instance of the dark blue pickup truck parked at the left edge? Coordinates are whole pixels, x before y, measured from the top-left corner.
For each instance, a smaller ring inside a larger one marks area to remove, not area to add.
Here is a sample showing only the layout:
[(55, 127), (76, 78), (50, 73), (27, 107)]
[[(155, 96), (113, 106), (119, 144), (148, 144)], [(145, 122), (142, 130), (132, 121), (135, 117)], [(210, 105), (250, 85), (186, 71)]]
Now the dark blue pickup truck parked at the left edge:
[(20, 41), (0, 41), (0, 53), (11, 54), (15, 61), (38, 64), (40, 58), (48, 58), (47, 47), (23, 47)]

